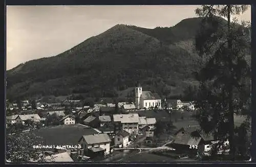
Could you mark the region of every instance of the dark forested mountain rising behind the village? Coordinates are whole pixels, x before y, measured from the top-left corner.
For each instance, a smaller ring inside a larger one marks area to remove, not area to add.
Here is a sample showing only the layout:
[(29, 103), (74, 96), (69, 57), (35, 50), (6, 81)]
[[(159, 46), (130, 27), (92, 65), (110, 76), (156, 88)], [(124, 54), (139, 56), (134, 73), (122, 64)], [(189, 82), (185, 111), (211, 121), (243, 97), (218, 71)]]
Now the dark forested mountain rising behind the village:
[(197, 84), (192, 73), (201, 62), (194, 49), (200, 20), (155, 29), (116, 25), (57, 56), (8, 70), (7, 98), (72, 93), (111, 98), (138, 82), (160, 96), (178, 96)]

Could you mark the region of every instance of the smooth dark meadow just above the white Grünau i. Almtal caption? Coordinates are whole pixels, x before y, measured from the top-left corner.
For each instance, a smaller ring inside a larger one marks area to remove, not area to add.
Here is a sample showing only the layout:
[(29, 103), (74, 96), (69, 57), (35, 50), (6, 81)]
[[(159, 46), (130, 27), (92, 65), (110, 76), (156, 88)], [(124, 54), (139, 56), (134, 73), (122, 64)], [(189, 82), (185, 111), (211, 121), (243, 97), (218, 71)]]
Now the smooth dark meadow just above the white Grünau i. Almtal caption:
[(98, 134), (93, 128), (80, 124), (60, 125), (32, 130), (29, 133), (42, 137), (47, 145), (76, 145), (82, 135)]

